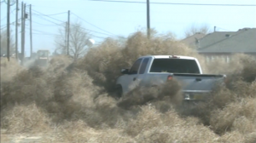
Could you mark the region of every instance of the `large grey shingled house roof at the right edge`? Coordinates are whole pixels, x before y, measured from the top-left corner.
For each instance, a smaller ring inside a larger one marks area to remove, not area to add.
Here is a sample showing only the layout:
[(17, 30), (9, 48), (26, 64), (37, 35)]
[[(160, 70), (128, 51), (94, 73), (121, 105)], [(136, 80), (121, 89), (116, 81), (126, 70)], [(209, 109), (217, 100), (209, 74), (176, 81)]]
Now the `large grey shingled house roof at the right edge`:
[(215, 31), (200, 39), (199, 53), (256, 53), (256, 28)]

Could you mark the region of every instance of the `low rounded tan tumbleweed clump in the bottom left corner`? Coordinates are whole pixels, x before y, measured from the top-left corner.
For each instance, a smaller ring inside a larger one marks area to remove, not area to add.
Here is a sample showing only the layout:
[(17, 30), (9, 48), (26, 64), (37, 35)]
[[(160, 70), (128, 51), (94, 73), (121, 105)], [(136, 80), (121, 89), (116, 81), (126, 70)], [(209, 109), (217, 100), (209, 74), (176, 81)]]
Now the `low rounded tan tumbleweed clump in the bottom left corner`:
[(1, 114), (1, 125), (8, 129), (7, 133), (46, 132), (50, 129), (47, 113), (34, 103), (27, 106), (16, 105)]

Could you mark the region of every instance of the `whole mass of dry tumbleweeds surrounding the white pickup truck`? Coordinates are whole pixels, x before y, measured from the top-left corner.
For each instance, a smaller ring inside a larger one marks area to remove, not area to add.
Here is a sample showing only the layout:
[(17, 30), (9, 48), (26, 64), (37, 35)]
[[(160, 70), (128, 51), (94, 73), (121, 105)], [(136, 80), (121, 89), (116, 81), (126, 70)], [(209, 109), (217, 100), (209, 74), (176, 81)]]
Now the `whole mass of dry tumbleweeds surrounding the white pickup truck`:
[[(114, 99), (111, 92), (120, 68), (130, 67), (145, 54), (195, 56), (204, 71), (226, 73), (229, 84), (210, 94), (207, 103), (185, 112), (177, 110), (181, 94), (176, 82), (151, 89), (135, 87), (125, 98)], [(217, 63), (216, 69), (173, 38), (156, 35), (148, 40), (138, 31), (125, 44), (107, 39), (76, 62), (59, 56), (46, 68), (30, 69), (2, 62), (1, 128), (9, 134), (49, 131), (54, 142), (250, 143), (256, 139), (256, 83), (252, 83), (256, 62), (246, 55), (237, 55), (230, 65)]]

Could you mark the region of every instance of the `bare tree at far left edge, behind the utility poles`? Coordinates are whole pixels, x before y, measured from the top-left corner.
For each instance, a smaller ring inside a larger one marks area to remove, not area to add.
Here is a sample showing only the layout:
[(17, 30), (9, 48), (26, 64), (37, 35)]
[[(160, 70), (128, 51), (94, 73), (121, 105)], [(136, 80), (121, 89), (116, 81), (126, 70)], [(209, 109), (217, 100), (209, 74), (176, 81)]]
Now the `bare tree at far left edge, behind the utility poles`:
[[(10, 49), (9, 49), (9, 54), (15, 54), (15, 42), (12, 38), (12, 36), (10, 36)], [(7, 31), (2, 31), (1, 32), (1, 45), (0, 45), (0, 49), (1, 49), (1, 53), (0, 54), (5, 54), (7, 55)]]

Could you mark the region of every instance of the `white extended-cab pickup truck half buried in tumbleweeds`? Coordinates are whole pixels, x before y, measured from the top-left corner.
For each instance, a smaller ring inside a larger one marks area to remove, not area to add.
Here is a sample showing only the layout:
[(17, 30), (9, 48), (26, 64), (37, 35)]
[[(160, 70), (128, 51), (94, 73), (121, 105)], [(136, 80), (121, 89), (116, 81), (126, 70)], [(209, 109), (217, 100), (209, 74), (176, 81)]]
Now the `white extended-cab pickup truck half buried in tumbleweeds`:
[(182, 83), (183, 100), (202, 100), (216, 84), (224, 85), (225, 75), (203, 74), (199, 61), (180, 55), (147, 55), (138, 58), (131, 69), (122, 69), (116, 80), (116, 94), (121, 97), (132, 85), (160, 86), (167, 80)]

